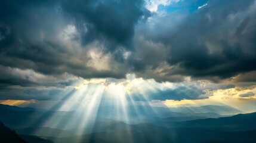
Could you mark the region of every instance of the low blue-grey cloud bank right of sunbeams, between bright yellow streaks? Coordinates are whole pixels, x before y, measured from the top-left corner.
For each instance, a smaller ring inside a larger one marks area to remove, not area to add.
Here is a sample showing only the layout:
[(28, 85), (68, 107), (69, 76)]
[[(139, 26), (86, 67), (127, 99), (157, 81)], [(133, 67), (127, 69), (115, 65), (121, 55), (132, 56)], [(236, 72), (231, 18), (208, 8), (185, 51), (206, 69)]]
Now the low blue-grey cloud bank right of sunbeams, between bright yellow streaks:
[[(144, 84), (146, 85), (146, 83)], [(153, 101), (153, 100), (201, 100), (209, 98), (213, 92), (218, 89), (235, 88), (235, 85), (216, 84), (201, 80), (198, 82), (180, 82), (174, 83), (174, 88), (147, 88), (145, 92), (136, 92), (128, 95), (128, 100), (134, 101)], [(140, 91), (141, 87), (134, 87)], [(143, 88), (143, 89), (144, 89)]]

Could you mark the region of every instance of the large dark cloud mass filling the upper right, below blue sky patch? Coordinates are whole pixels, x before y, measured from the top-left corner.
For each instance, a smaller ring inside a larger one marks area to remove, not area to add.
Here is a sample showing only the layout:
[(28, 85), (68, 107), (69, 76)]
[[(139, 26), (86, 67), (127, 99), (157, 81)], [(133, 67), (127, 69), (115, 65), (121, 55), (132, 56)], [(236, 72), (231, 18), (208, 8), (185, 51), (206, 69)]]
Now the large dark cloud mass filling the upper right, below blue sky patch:
[(224, 79), (256, 70), (255, 1), (207, 4), (192, 13), (175, 11), (156, 18), (153, 28), (144, 24), (138, 35), (171, 47), (166, 61), (178, 67), (171, 75)]

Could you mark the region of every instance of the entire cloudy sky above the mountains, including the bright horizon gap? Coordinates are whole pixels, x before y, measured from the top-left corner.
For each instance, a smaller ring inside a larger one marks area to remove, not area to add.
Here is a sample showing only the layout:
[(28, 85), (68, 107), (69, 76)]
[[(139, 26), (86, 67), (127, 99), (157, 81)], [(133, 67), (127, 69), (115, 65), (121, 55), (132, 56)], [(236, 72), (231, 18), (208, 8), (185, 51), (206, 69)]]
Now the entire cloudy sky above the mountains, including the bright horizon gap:
[(256, 1), (1, 1), (0, 103), (255, 111)]

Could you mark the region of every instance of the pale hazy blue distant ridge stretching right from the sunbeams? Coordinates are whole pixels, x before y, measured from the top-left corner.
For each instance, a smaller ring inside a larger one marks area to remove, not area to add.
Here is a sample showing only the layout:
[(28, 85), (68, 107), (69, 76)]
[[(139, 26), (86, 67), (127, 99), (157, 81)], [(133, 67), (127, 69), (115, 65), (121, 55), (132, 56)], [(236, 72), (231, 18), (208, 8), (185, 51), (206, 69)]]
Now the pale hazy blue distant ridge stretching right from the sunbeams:
[[(129, 123), (145, 122), (155, 117), (168, 118), (168, 117), (193, 116), (193, 117), (216, 118), (216, 117), (221, 117), (220, 114), (215, 112), (218, 109), (223, 110), (223, 112), (221, 113), (224, 113), (225, 111), (226, 114), (232, 114), (239, 111), (239, 110), (235, 110), (235, 108), (232, 108), (232, 107), (215, 106), (215, 105), (192, 107), (193, 110), (190, 110), (190, 107), (168, 108), (168, 107), (152, 107), (150, 105), (127, 105), (126, 108), (128, 109), (126, 114), (129, 117), (129, 120), (126, 122), (129, 122)], [(109, 113), (113, 113), (113, 114), (109, 114)], [(122, 120), (122, 117), (116, 116), (114, 113), (118, 113), (118, 109), (110, 105), (106, 105), (106, 106), (100, 106), (98, 108), (97, 115), (106, 117), (107, 119)]]

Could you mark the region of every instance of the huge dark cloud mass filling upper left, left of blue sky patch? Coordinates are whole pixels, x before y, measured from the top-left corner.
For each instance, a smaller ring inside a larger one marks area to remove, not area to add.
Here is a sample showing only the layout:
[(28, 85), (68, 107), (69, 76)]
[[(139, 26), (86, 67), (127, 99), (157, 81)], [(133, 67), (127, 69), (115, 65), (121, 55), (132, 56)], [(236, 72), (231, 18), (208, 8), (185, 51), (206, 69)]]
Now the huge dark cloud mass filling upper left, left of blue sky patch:
[[(84, 78), (125, 77), (125, 66), (118, 70), (88, 66), (94, 60), (88, 50), (93, 46), (106, 52), (118, 46), (132, 48), (134, 25), (149, 16), (138, 0), (2, 3), (0, 64), (54, 76), (67, 72)], [(102, 44), (93, 45), (94, 41)], [(116, 67), (115, 61), (110, 64)]]

